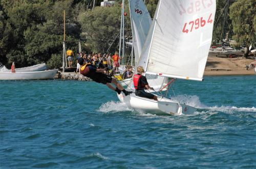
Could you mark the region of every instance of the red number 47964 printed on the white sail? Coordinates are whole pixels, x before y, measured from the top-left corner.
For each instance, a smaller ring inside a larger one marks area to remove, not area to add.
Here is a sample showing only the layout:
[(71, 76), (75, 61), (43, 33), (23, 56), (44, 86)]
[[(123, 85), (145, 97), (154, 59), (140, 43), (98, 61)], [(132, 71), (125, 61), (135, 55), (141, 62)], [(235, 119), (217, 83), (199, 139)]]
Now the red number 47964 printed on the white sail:
[[(212, 14), (210, 14), (207, 22), (203, 17), (197, 18), (196, 20), (192, 20), (188, 23), (186, 22), (183, 26), (182, 32), (187, 34), (188, 32), (192, 32), (193, 30), (199, 29), (199, 27), (204, 27), (206, 23), (212, 23), (213, 20), (211, 19), (211, 15)], [(188, 26), (187, 26), (187, 24), (188, 24)], [(190, 25), (190, 27), (189, 27), (189, 25)]]

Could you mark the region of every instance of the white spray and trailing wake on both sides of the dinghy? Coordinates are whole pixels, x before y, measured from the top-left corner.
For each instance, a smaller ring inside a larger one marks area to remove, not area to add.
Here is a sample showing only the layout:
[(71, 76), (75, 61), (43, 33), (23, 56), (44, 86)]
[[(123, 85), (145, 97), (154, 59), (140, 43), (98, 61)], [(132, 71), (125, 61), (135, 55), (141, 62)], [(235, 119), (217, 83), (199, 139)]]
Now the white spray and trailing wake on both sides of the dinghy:
[[(195, 114), (202, 114), (202, 113), (210, 113), (210, 112), (225, 112), (228, 114), (234, 113), (234, 112), (256, 112), (256, 107), (237, 107), (237, 106), (207, 106), (203, 104), (199, 97), (196, 95), (189, 96), (189, 95), (179, 95), (176, 97), (173, 97), (174, 100), (179, 101), (180, 103), (184, 103), (189, 106), (193, 106), (198, 108), (198, 111), (195, 112)], [(126, 104), (120, 102), (120, 101), (109, 101), (106, 103), (103, 103), (98, 111), (100, 112), (121, 112), (121, 111), (136, 111), (132, 108), (129, 108)], [(145, 114), (145, 112), (143, 112)]]

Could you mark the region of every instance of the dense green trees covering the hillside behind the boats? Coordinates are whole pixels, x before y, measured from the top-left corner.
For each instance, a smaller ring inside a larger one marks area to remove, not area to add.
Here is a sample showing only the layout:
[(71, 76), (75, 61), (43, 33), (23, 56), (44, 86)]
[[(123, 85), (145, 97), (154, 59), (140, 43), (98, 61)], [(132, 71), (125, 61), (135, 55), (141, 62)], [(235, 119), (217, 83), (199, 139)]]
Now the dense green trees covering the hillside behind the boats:
[[(228, 3), (227, 3), (228, 2)], [(125, 3), (128, 3), (125, 1)], [(158, 0), (147, 0), (154, 16)], [(0, 62), (7, 67), (25, 67), (45, 62), (49, 68), (62, 65), (63, 10), (66, 11), (66, 40), (82, 42), (87, 52), (114, 53), (118, 49), (121, 0), (113, 7), (93, 8), (90, 0), (1, 0)], [(217, 0), (213, 43), (221, 43), (227, 33), (239, 46), (255, 43), (256, 2), (254, 0)], [(125, 8), (127, 25), (129, 8)], [(131, 32), (127, 26), (125, 32)], [(67, 46), (78, 52), (75, 42)]]

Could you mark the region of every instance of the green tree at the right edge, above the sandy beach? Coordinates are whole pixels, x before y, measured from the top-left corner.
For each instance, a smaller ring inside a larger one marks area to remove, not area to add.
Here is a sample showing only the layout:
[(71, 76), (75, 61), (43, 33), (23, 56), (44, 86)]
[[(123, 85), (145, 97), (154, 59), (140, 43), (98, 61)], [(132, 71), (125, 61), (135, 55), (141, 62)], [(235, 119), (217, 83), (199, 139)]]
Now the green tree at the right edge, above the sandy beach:
[(230, 19), (233, 26), (233, 39), (240, 45), (245, 45), (247, 50), (245, 57), (248, 57), (249, 46), (256, 41), (255, 34), (255, 0), (237, 0), (230, 7)]

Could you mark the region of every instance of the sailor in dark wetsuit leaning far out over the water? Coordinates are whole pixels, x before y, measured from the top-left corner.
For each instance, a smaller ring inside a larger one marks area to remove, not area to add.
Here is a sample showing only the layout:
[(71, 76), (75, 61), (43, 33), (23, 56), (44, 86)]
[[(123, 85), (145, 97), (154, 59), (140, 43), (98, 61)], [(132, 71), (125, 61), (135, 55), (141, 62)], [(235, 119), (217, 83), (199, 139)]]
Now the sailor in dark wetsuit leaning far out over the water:
[[(83, 58), (79, 58), (78, 63), (81, 65), (80, 73), (82, 75), (90, 77), (91, 79), (93, 79), (93, 81), (108, 86), (110, 89), (116, 91), (118, 94), (123, 92), (125, 96), (127, 96), (132, 93), (124, 90), (115, 78), (112, 78), (104, 74), (104, 71), (106, 69), (97, 69), (94, 65), (86, 64)], [(116, 88), (113, 87), (110, 83), (113, 83), (116, 86)]]

